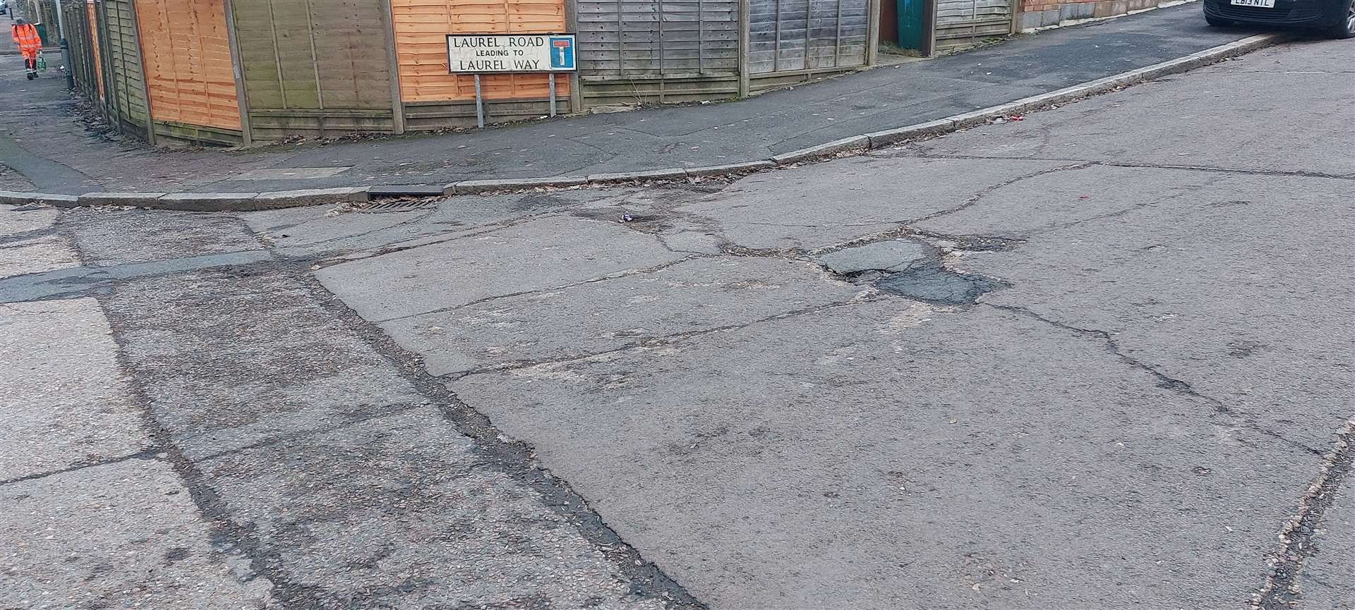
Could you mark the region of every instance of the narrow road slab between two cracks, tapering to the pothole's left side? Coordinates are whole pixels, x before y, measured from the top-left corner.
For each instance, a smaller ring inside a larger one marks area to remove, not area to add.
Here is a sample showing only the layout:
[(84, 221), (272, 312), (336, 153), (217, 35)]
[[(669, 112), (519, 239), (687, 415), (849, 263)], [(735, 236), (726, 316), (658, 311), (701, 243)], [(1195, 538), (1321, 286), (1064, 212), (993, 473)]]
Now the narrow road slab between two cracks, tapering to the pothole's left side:
[(843, 303), (866, 288), (810, 262), (696, 258), (614, 280), (477, 302), (382, 327), (432, 375), (569, 360)]

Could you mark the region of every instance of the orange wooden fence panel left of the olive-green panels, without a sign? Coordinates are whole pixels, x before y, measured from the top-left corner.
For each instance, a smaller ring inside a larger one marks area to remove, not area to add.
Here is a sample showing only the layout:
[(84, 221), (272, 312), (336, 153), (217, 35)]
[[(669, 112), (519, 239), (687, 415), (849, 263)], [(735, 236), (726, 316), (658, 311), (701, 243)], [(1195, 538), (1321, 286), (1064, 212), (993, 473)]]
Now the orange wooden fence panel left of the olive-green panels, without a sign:
[(136, 0), (150, 118), (240, 128), (222, 0)]

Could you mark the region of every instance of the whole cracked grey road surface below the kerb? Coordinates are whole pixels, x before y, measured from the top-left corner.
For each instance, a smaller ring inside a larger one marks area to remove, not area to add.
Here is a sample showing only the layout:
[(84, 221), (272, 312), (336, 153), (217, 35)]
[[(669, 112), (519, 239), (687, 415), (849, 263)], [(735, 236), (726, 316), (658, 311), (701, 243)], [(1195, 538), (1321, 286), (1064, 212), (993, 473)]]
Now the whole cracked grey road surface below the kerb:
[(0, 607), (1350, 610), (1352, 50), (728, 183), (0, 210)]

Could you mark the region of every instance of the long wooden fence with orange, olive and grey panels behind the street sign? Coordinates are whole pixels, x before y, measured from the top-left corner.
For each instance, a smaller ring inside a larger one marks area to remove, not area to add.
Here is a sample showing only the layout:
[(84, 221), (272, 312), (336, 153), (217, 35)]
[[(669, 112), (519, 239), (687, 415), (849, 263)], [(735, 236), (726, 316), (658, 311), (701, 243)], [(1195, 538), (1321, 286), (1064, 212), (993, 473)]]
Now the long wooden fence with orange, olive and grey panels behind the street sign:
[[(579, 72), (557, 74), (556, 92), (561, 111), (583, 111), (859, 69), (878, 1), (72, 0), (66, 15), (80, 91), (123, 133), (247, 145), (474, 124), (449, 34), (576, 32)], [(482, 76), (488, 120), (545, 115), (547, 78)]]

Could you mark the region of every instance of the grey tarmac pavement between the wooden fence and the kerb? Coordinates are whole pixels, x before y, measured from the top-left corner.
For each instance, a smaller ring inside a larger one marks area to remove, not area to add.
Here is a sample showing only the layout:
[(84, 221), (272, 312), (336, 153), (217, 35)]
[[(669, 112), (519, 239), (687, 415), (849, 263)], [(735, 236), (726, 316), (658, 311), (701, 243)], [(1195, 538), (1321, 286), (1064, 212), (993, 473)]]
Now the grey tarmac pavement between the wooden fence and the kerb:
[[(46, 78), (0, 91), (0, 105), (33, 110), (7, 122), (0, 153), (34, 189), (68, 195), (444, 185), (717, 166), (1003, 104), (1251, 34), (1209, 28), (1199, 5), (1187, 4), (734, 103), (251, 151), (157, 153), (107, 131), (83, 134), (68, 118), (72, 104), (60, 83)], [(0, 78), (15, 78), (14, 69)]]

